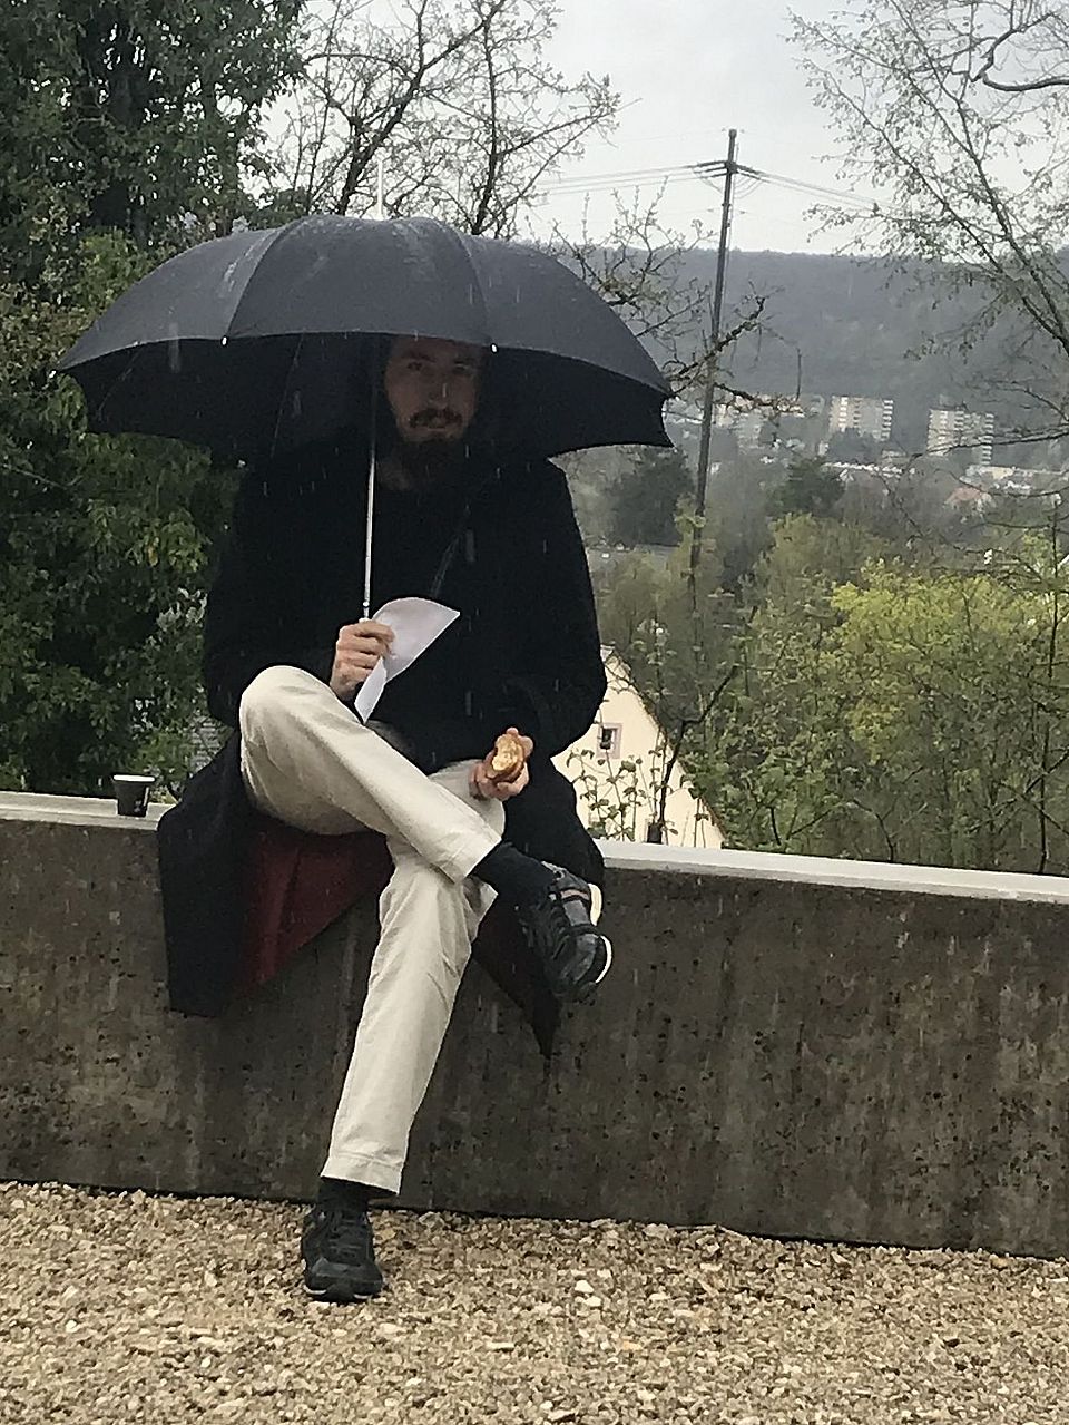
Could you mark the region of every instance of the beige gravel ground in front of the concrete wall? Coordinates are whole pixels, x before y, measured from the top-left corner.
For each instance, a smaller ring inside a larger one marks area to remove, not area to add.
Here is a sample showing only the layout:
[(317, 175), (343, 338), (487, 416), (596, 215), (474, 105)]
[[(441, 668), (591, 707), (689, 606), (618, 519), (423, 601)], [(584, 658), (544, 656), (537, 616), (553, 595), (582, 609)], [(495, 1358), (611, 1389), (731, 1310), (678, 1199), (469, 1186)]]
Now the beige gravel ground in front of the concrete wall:
[(379, 1213), (332, 1307), (300, 1216), (0, 1184), (0, 1422), (1069, 1422), (1065, 1261)]

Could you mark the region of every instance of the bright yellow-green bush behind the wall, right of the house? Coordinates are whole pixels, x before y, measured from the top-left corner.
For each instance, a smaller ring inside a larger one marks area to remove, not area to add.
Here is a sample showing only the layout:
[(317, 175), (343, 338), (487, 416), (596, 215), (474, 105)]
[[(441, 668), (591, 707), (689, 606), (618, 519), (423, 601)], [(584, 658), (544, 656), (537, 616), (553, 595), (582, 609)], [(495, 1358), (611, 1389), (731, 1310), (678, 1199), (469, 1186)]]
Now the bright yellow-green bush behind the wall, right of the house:
[(986, 576), (878, 569), (833, 604), (847, 728), (898, 854), (1016, 866), (1035, 839), (1028, 787), (1048, 721), (1042, 597)]

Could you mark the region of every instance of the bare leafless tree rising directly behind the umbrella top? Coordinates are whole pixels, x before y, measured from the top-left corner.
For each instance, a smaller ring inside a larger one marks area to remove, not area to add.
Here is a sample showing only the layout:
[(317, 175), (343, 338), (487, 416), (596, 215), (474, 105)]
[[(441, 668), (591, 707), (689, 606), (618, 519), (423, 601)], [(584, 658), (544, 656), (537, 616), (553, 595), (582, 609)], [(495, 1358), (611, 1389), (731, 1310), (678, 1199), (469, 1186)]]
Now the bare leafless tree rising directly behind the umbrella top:
[(306, 21), (276, 207), (370, 212), (381, 161), (387, 214), (511, 235), (545, 175), (618, 108), (608, 78), (569, 80), (545, 60), (554, 27), (551, 0), (404, 0), (389, 24), (366, 0), (332, 0)]

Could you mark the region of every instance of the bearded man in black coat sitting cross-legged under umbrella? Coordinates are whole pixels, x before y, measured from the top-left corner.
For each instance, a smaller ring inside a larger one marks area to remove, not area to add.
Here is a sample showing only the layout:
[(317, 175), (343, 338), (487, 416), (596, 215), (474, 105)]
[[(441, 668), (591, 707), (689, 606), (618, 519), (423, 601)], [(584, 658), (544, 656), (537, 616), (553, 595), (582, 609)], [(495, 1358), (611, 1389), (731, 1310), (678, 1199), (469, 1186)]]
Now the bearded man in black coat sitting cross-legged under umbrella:
[[(595, 929), (596, 851), (549, 764), (586, 731), (605, 693), (586, 561), (561, 473), (491, 459), (488, 418), (507, 423), (507, 412), (478, 410), (488, 379), (477, 348), (390, 343), (374, 606), (420, 594), (461, 617), (387, 685), (373, 722), (352, 703), (393, 634), (352, 621), (367, 455), (357, 437), (245, 480), (208, 603), (208, 701), (239, 727), (252, 807), (322, 835), (381, 832), (394, 864), (302, 1237), (306, 1288), (335, 1301), (381, 1290), (367, 1206), (400, 1186), (494, 898), (514, 908), (559, 1000), (589, 995), (611, 962)], [(522, 748), (508, 778), (490, 761), (504, 732)]]

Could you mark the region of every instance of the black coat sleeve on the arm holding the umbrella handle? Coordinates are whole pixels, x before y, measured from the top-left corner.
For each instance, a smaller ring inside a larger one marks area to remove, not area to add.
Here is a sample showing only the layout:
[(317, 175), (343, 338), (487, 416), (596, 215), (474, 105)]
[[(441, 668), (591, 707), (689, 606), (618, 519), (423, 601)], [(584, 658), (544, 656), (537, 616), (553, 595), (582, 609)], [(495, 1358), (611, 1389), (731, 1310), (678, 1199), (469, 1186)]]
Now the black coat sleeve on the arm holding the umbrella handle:
[(228, 727), (238, 727), (242, 693), (265, 668), (289, 664), (326, 683), (333, 667), (333, 647), (309, 644), (307, 502), (285, 475), (242, 480), (208, 594), (204, 685), (209, 712)]

